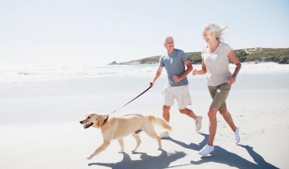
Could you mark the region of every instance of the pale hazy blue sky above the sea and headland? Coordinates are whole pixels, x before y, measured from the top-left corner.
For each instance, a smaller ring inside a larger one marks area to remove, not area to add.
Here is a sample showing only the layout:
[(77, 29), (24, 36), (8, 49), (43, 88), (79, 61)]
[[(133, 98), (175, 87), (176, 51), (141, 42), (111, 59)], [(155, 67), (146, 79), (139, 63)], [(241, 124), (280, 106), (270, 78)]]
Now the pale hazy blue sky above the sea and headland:
[(289, 1), (0, 0), (0, 66), (108, 64), (199, 52), (202, 26), (230, 24), (233, 49), (289, 48)]

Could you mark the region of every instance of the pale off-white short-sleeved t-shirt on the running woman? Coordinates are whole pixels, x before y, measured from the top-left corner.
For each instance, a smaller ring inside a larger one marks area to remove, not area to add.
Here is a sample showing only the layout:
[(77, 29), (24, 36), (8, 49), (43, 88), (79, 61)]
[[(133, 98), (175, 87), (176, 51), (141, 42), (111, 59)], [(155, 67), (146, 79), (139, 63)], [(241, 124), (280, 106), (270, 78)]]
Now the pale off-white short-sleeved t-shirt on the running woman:
[(202, 58), (207, 68), (208, 86), (218, 86), (228, 81), (231, 76), (228, 54), (231, 50), (233, 49), (230, 45), (223, 42), (213, 53), (207, 47), (202, 50)]

